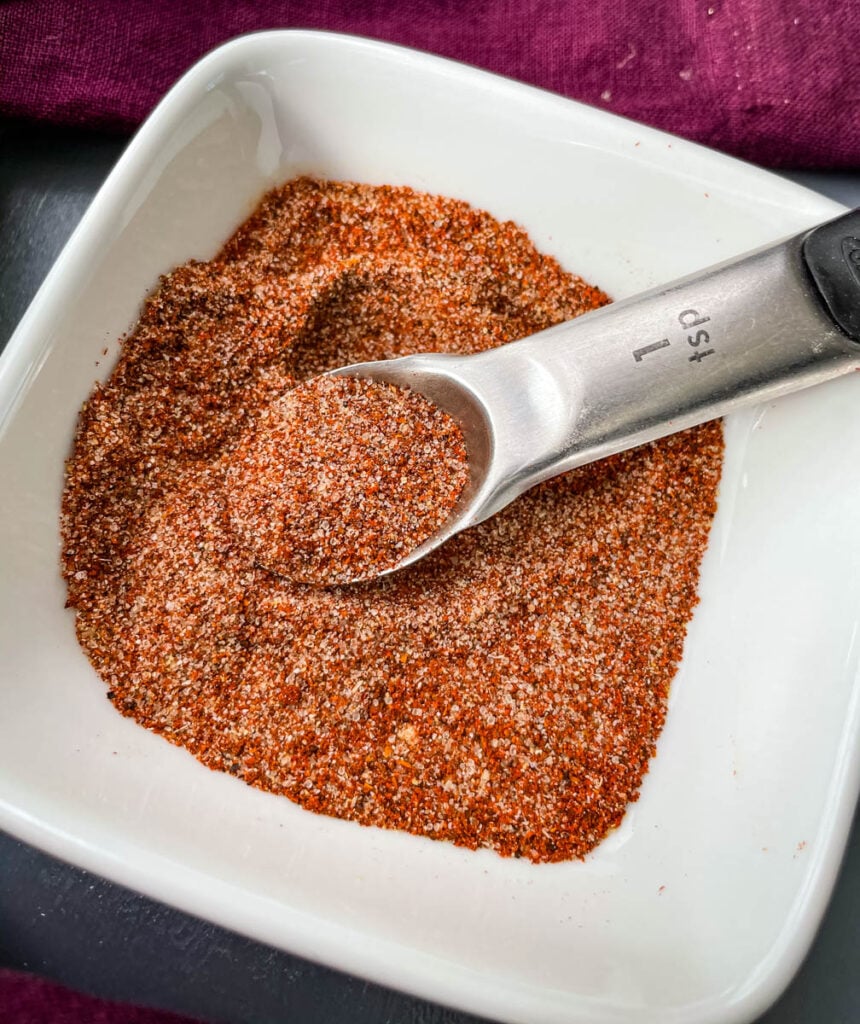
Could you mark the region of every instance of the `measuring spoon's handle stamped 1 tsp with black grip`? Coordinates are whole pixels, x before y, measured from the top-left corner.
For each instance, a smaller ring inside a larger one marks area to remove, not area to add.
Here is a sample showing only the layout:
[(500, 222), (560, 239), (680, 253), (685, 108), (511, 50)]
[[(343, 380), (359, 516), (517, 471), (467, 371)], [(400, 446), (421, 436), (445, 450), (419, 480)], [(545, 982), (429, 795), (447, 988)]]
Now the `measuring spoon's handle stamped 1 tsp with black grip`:
[(543, 429), (520, 431), (514, 447), (540, 455), (508, 465), (486, 514), (557, 473), (860, 367), (860, 211), (506, 349), (512, 369), (542, 371), (541, 415), (522, 414)]

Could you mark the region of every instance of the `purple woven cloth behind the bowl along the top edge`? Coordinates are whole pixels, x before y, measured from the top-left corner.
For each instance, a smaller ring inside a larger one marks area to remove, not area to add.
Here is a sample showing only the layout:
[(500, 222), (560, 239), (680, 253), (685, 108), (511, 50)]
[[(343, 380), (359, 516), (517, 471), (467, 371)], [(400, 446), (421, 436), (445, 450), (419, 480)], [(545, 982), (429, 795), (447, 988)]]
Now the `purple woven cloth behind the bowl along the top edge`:
[(860, 166), (858, 0), (5, 0), (0, 114), (128, 130), (270, 28), (416, 46), (762, 164)]

